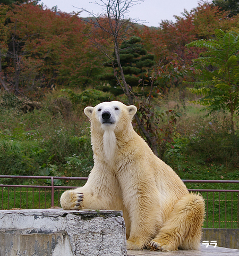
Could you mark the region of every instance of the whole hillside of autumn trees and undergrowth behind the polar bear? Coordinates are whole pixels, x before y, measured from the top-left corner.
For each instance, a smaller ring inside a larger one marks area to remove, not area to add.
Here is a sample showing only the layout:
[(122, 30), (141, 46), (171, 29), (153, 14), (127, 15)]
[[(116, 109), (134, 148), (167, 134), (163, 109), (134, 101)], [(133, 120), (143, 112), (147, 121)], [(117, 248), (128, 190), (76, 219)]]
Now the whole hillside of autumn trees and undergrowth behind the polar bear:
[(119, 100), (181, 178), (238, 179), (236, 8), (201, 2), (155, 28), (22, 2), (0, 4), (2, 174), (87, 176), (83, 109)]

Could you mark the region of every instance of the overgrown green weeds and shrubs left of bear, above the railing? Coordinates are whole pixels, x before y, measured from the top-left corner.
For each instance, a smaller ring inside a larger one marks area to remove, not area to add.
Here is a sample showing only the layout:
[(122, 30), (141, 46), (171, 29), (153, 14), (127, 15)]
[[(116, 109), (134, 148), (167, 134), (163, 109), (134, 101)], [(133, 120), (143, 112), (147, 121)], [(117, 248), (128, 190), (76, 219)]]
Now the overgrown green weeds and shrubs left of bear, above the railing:
[[(32, 112), (21, 111), (14, 95), (0, 95), (0, 102), (5, 102), (0, 112), (3, 175), (88, 176), (93, 165), (89, 124), (75, 115), (70, 100), (45, 101)], [(52, 111), (54, 105), (59, 112)], [(73, 155), (80, 156), (79, 166), (67, 164)]]

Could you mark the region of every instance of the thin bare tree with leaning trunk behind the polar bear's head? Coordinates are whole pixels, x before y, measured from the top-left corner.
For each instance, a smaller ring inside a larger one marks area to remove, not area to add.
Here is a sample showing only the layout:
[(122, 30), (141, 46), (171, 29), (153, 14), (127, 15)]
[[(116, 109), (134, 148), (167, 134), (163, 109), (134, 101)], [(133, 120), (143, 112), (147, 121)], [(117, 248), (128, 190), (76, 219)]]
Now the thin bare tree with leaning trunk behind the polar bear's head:
[[(129, 12), (130, 7), (132, 7), (134, 4), (137, 4), (141, 1), (138, 0), (124, 0), (124, 1), (119, 1), (119, 0), (100, 0), (100, 4), (96, 2), (96, 4), (104, 7), (106, 10), (106, 15), (96, 15), (92, 12), (88, 12), (91, 16), (93, 16), (93, 20), (90, 22), (94, 27), (93, 28), (98, 28), (101, 31), (104, 31), (105, 34), (109, 36), (112, 42), (112, 48), (110, 48), (110, 45), (106, 45), (105, 42), (101, 42), (99, 38), (96, 36), (95, 31), (92, 30), (91, 33), (88, 35), (89, 38), (92, 40), (93, 43), (95, 43), (95, 46), (99, 49), (99, 51), (105, 56), (108, 57), (108, 64), (112, 65), (114, 69), (114, 76), (117, 80), (118, 86), (121, 86), (124, 94), (127, 96), (127, 99), (130, 104), (134, 104), (135, 102), (139, 101), (139, 98), (137, 98), (130, 85), (127, 83), (126, 78), (125, 78), (125, 72), (122, 67), (122, 60), (121, 60), (121, 43), (127, 39), (127, 32), (130, 31), (132, 28), (132, 22), (130, 19), (126, 17), (127, 12)], [(107, 36), (106, 36), (107, 38)], [(108, 38), (107, 38), (108, 39)], [(117, 64), (117, 66), (115, 65)], [(149, 95), (152, 96), (152, 89), (153, 89), (153, 81), (155, 79), (151, 79), (151, 91), (149, 92)], [(148, 95), (148, 96), (149, 96)], [(141, 104), (146, 104), (145, 108), (146, 111), (149, 110), (151, 113), (148, 114), (150, 115), (150, 120), (153, 122), (153, 115), (152, 111), (153, 109), (151, 108), (151, 105), (147, 102), (148, 97), (143, 101)], [(141, 105), (142, 106), (142, 105)], [(146, 112), (144, 112), (146, 113)], [(147, 115), (147, 114), (146, 114)], [(158, 155), (158, 148), (157, 148), (157, 133), (150, 133), (150, 130), (147, 130), (142, 121), (140, 120), (139, 115), (136, 113), (135, 114), (135, 119), (138, 124), (139, 130), (141, 135), (146, 139), (147, 143), (150, 145), (152, 151)]]

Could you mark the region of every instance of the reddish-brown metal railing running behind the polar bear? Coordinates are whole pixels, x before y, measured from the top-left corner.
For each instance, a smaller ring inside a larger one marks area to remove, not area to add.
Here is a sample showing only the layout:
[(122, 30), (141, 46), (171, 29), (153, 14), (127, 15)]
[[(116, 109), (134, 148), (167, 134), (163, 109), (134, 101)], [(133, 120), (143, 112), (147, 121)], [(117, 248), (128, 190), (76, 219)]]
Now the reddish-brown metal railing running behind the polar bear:
[[(12, 208), (49, 208), (59, 205), (59, 199), (66, 189), (77, 186), (54, 185), (57, 180), (84, 180), (87, 177), (49, 177), (49, 176), (9, 176), (1, 179), (40, 179), (48, 180), (49, 185), (8, 185), (0, 184), (1, 209)], [(49, 182), (50, 181), (50, 182)], [(191, 184), (239, 184), (239, 180), (183, 180)], [(5, 183), (5, 182), (4, 182)], [(11, 182), (13, 183), (13, 182)], [(46, 183), (42, 181), (42, 183)], [(83, 184), (82, 184), (83, 185)], [(202, 186), (203, 186), (202, 185)], [(237, 186), (238, 187), (238, 186)], [(201, 189), (189, 188), (190, 192), (199, 192), (206, 201), (206, 228), (239, 228), (239, 189)], [(2, 195), (1, 195), (2, 192)], [(32, 204), (32, 206), (30, 206)]]

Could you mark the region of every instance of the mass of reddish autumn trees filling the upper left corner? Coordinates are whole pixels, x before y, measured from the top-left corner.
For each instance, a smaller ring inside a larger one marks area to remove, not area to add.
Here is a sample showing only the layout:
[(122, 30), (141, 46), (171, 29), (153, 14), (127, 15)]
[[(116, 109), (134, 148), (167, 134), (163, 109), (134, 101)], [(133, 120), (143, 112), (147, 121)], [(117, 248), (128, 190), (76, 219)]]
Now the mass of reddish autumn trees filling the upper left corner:
[(56, 85), (84, 88), (98, 81), (101, 56), (85, 36), (90, 26), (78, 13), (31, 2), (0, 5), (0, 12), (2, 86), (35, 97)]

